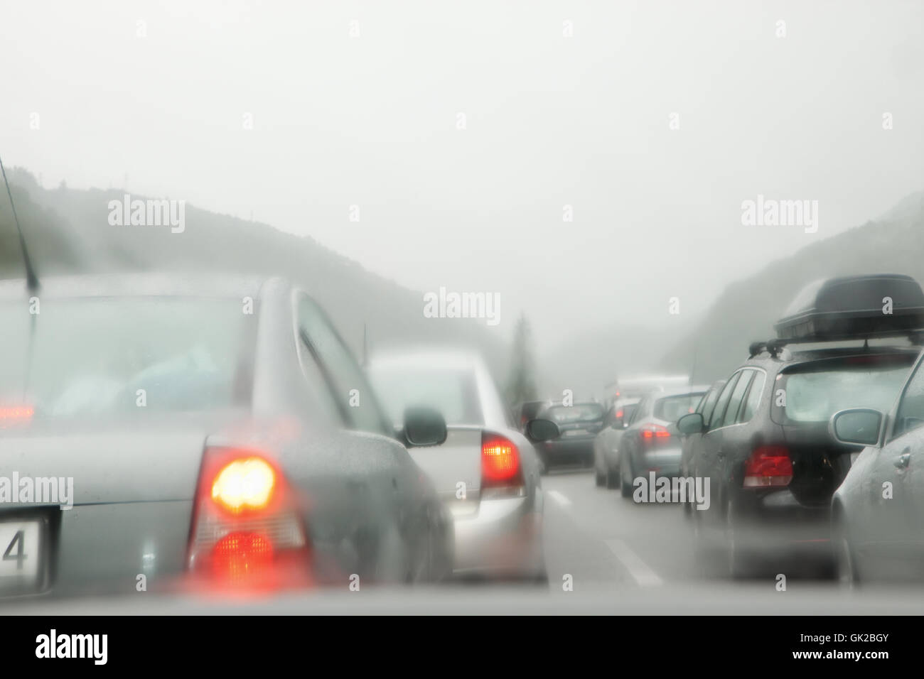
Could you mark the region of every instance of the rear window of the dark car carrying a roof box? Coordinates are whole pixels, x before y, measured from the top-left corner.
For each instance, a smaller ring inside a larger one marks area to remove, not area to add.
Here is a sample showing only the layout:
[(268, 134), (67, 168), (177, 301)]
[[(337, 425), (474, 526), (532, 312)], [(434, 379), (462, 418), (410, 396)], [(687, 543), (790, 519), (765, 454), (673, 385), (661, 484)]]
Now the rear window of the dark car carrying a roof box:
[(838, 410), (849, 407), (886, 412), (894, 404), (914, 360), (912, 355), (893, 354), (798, 364), (784, 370), (777, 380), (772, 418), (781, 424), (799, 424), (825, 422)]

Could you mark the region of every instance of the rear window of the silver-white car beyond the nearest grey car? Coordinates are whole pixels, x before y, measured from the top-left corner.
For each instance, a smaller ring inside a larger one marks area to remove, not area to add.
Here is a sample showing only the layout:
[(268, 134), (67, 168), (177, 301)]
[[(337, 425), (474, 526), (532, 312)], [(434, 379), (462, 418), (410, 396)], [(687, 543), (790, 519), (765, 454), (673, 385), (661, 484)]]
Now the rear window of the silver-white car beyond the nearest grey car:
[(398, 426), (404, 422), (409, 406), (435, 408), (448, 425), (484, 424), (475, 375), (470, 370), (372, 365), (369, 376), (389, 417)]

